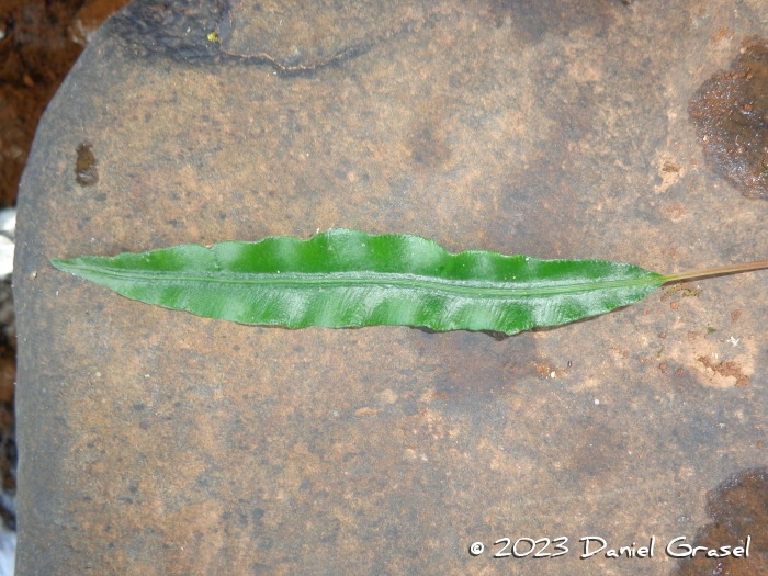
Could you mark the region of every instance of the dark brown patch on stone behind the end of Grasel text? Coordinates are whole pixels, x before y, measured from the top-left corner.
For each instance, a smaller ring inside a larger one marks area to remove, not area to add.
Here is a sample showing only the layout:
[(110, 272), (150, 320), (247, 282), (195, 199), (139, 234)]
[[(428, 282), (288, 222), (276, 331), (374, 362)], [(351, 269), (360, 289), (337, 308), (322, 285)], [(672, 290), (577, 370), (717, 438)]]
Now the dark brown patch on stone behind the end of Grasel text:
[(701, 552), (681, 560), (673, 576), (766, 574), (768, 563), (768, 468), (743, 471), (707, 495), (712, 522), (700, 528), (693, 546), (744, 546), (752, 537), (749, 557), (708, 558)]

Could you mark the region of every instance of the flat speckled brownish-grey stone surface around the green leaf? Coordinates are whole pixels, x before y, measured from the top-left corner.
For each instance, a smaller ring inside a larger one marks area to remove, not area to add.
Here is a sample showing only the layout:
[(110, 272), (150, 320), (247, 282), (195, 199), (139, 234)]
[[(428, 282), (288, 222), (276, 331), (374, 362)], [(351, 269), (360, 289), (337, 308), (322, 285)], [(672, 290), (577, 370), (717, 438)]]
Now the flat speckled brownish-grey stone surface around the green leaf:
[[(666, 542), (768, 461), (767, 272), (496, 340), (207, 320), (48, 258), (337, 226), (659, 272), (766, 258), (768, 202), (689, 118), (755, 34), (758, 0), (128, 7), (21, 187), (18, 574), (678, 569)], [(581, 561), (587, 535), (656, 553)]]

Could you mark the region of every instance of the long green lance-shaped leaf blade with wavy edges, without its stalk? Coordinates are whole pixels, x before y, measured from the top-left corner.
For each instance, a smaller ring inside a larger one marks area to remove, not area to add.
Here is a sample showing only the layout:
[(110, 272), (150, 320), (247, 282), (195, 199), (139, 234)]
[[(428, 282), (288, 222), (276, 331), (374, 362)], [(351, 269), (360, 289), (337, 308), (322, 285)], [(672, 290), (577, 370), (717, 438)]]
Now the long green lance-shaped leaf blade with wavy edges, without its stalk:
[(668, 280), (632, 264), (451, 255), (418, 236), (346, 229), (309, 240), (273, 237), (52, 262), (148, 304), (290, 328), (405, 325), (516, 334), (633, 304)]

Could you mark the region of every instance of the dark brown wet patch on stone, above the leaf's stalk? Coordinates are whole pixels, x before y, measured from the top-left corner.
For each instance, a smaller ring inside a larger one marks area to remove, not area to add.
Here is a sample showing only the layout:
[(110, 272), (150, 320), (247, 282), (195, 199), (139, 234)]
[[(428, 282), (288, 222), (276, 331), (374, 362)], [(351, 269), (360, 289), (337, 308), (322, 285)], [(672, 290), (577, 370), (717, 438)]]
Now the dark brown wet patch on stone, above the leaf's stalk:
[(710, 168), (746, 197), (768, 200), (768, 41), (743, 44), (731, 70), (693, 94), (690, 115)]

